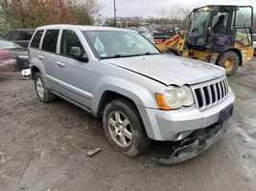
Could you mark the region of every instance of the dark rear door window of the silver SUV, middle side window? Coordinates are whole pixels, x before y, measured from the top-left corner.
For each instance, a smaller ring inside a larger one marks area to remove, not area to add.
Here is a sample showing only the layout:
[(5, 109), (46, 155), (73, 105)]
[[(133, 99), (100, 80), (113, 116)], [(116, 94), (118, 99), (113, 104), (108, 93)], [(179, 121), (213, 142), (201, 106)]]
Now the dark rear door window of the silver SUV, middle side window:
[(59, 30), (47, 30), (42, 43), (42, 50), (56, 53)]

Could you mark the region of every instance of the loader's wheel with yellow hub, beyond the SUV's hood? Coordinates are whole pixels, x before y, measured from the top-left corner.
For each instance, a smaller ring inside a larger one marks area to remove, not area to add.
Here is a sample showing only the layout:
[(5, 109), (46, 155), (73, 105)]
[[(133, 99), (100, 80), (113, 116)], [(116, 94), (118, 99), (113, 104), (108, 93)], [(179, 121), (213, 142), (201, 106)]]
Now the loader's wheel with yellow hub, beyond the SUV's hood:
[(217, 65), (221, 66), (225, 70), (226, 75), (235, 74), (238, 70), (239, 63), (239, 55), (231, 51), (223, 53), (217, 61)]

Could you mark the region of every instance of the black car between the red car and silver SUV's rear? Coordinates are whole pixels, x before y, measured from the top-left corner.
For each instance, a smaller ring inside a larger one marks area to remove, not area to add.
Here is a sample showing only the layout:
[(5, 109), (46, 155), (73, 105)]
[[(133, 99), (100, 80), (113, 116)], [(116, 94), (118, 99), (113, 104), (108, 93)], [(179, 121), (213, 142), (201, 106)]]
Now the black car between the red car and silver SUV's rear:
[(10, 51), (11, 57), (16, 60), (15, 70), (29, 68), (28, 49), (20, 47), (11, 41), (0, 39), (0, 50)]

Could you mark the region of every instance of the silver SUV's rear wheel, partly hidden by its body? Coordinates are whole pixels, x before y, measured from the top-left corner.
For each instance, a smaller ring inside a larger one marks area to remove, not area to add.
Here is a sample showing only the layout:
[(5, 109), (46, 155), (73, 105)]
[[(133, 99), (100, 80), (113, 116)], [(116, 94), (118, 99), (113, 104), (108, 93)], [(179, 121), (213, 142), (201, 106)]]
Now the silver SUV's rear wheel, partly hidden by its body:
[(48, 103), (55, 100), (55, 95), (49, 91), (40, 73), (35, 74), (35, 92), (41, 102)]

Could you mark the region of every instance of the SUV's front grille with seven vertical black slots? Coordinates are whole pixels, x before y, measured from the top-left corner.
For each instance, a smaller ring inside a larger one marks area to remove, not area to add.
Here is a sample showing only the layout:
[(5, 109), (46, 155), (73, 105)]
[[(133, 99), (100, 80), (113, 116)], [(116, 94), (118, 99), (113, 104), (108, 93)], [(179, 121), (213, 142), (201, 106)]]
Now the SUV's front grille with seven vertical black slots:
[(199, 110), (205, 110), (220, 103), (228, 94), (226, 78), (198, 84), (191, 88), (193, 90), (196, 107)]

